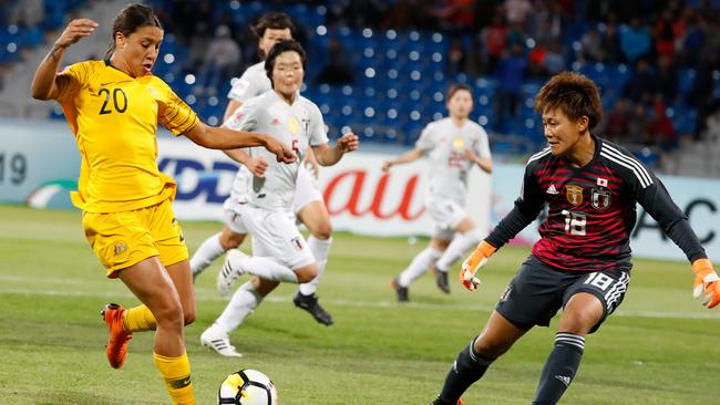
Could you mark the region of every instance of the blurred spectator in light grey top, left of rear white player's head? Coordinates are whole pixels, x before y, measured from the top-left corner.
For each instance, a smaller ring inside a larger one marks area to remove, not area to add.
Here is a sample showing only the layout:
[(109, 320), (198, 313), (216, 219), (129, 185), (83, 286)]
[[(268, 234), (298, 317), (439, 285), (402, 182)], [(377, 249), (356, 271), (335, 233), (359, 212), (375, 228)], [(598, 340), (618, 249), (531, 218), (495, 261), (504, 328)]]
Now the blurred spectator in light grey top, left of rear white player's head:
[(215, 89), (218, 83), (226, 81), (239, 69), (240, 58), (240, 46), (230, 37), (230, 29), (227, 25), (218, 25), (200, 70), (205, 87)]

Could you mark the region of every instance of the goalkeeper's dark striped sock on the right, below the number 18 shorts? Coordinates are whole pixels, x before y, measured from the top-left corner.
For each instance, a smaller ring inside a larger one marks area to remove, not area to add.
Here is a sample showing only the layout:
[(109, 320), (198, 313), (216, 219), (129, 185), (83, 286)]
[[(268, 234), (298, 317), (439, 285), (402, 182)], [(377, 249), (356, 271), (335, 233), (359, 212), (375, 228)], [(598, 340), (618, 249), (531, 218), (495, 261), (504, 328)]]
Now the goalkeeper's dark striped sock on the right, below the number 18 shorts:
[(577, 373), (584, 351), (585, 338), (574, 333), (555, 334), (555, 349), (543, 367), (534, 405), (551, 405), (560, 401)]

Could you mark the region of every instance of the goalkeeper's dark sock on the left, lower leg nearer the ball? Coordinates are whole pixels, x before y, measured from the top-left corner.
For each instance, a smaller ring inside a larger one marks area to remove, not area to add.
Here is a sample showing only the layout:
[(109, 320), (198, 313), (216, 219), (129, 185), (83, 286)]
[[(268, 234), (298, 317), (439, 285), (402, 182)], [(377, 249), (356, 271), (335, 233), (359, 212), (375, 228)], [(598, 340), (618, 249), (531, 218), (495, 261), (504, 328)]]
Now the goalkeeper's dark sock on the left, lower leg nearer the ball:
[(480, 380), (495, 359), (486, 359), (473, 351), (473, 339), (470, 344), (457, 354), (455, 363), (448, 372), (445, 384), (440, 393), (440, 401), (455, 404), (461, 395), (474, 382)]

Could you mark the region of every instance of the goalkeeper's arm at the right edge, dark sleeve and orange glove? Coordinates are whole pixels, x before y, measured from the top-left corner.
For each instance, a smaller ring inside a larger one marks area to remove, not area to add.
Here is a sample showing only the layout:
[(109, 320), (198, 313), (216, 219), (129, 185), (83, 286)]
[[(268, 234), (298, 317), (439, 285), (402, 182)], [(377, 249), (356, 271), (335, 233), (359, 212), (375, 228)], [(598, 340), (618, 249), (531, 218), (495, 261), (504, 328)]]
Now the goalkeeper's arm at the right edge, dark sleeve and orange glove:
[[(640, 179), (642, 176), (645, 176), (644, 180)], [(690, 227), (688, 217), (675, 204), (662, 181), (655, 174), (646, 170), (641, 176), (630, 176), (630, 184), (637, 201), (655, 218), (662, 231), (682, 249), (692, 264), (696, 276), (693, 297), (703, 297), (702, 304), (708, 308), (720, 304), (720, 278), (712, 268), (698, 236)]]

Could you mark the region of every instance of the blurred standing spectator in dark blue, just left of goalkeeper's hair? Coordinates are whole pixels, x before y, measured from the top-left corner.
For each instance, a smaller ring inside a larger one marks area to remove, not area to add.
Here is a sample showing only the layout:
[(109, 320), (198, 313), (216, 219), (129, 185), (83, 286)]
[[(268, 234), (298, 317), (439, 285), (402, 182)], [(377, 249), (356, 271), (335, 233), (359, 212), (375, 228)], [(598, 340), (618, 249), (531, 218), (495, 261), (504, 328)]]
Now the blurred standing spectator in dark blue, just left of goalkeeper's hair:
[(515, 43), (497, 66), (498, 89), (495, 97), (495, 131), (514, 131), (522, 89), (527, 75), (527, 60), (523, 45)]

